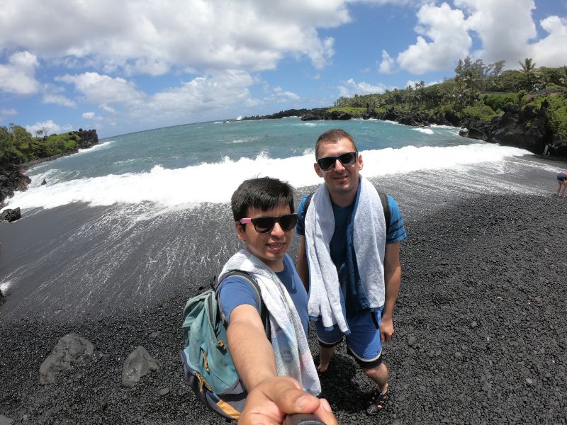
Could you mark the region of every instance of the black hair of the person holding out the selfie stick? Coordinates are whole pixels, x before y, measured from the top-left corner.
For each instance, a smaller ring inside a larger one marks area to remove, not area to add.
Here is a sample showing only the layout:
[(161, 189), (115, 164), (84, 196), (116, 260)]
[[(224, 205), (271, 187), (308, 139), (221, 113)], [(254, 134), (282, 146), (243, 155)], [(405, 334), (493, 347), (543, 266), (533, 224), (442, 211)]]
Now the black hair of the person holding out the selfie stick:
[(246, 217), (248, 208), (266, 211), (278, 205), (289, 205), (289, 210), (293, 213), (295, 212), (293, 187), (284, 181), (271, 179), (271, 177), (245, 180), (238, 186), (235, 193), (232, 193), (230, 205), (235, 221)]

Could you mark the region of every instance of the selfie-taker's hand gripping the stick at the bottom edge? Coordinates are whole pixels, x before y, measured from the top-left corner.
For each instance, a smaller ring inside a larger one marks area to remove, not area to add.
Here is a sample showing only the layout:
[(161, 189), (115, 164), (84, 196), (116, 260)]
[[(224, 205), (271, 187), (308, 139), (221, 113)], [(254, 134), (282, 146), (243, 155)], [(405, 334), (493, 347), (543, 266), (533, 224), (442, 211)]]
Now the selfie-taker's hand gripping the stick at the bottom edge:
[(286, 414), (294, 413), (314, 413), (327, 425), (338, 424), (326, 399), (308, 394), (287, 376), (266, 379), (249, 392), (238, 424), (279, 425)]

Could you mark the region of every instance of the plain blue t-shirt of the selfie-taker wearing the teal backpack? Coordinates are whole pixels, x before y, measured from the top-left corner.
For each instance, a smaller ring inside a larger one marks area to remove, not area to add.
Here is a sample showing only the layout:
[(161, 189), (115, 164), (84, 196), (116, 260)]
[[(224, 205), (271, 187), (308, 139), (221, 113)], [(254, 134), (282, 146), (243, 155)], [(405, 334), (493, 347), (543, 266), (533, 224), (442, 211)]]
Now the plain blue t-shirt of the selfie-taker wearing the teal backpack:
[[(283, 271), (276, 272), (276, 275), (286, 287), (286, 290), (288, 290), (288, 294), (293, 301), (293, 305), (296, 306), (299, 318), (301, 319), (301, 324), (303, 324), (305, 335), (308, 335), (309, 317), (307, 314), (307, 291), (288, 254), (283, 257)], [(230, 321), (232, 310), (235, 310), (239, 305), (249, 304), (256, 309), (260, 307), (256, 302), (256, 291), (254, 291), (254, 288), (252, 288), (245, 278), (238, 276), (230, 276), (230, 278), (226, 278), (220, 283), (218, 300), (220, 302), (220, 310), (226, 317), (227, 322)]]

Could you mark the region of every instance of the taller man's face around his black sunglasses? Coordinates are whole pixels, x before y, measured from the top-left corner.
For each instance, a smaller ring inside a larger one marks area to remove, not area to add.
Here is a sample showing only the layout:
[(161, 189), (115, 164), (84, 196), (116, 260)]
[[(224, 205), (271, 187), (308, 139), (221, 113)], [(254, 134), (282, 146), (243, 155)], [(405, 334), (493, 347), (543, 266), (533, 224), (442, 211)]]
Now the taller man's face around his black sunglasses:
[[(339, 155), (346, 154), (348, 152), (354, 152), (353, 143), (348, 139), (340, 139), (339, 142), (322, 141), (320, 142), (317, 158), (322, 157), (338, 157)], [(323, 171), (319, 164), (315, 162), (315, 172), (318, 176), (325, 180), (327, 185), (327, 190), (333, 200), (337, 196), (355, 196), (357, 193), (357, 188), (359, 185), (359, 171), (363, 166), (362, 157), (359, 154), (357, 157), (357, 162), (352, 166), (343, 166), (341, 162), (337, 159), (335, 161), (335, 166), (332, 169)]]

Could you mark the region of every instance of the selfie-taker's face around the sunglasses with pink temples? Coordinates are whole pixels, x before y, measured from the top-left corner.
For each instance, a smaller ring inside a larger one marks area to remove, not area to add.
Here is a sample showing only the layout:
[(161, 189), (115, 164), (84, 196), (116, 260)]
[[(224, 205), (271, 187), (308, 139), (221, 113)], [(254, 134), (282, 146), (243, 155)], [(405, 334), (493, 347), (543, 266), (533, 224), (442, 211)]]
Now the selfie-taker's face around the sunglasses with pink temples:
[[(266, 211), (248, 208), (246, 217), (281, 217), (288, 214), (291, 214), (289, 205), (280, 204), (276, 208)], [(242, 225), (237, 222), (236, 232), (238, 238), (246, 242), (248, 251), (254, 254), (254, 256), (264, 261), (273, 271), (283, 271), (283, 256), (286, 255), (291, 243), (293, 229), (283, 230), (279, 222), (276, 222), (271, 232), (258, 233), (252, 223), (248, 223), (245, 225), (245, 229), (242, 229)]]

